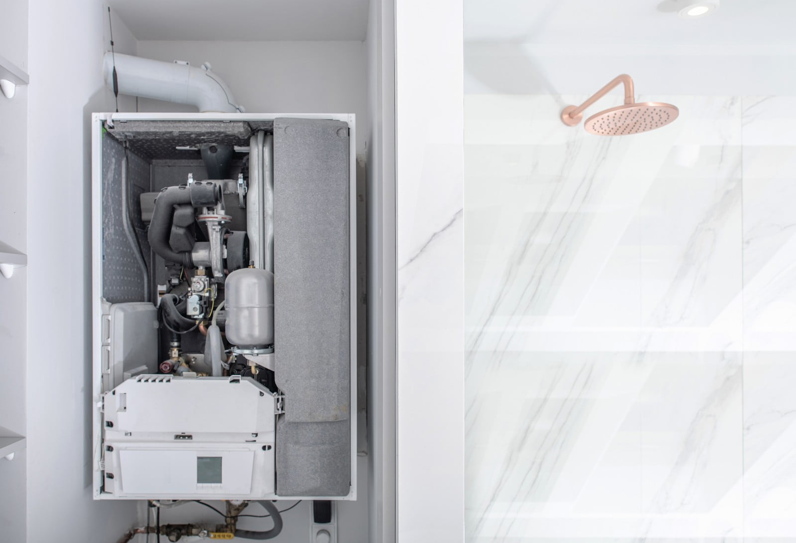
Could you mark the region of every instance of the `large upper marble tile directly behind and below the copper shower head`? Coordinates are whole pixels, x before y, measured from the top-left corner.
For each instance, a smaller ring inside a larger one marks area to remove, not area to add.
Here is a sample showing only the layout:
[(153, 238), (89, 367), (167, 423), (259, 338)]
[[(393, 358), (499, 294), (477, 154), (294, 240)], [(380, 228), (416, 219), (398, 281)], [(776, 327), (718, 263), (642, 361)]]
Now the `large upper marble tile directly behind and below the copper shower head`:
[(680, 125), (616, 139), (564, 127), (577, 100), (466, 97), (468, 347), (739, 343), (738, 100), (671, 98)]

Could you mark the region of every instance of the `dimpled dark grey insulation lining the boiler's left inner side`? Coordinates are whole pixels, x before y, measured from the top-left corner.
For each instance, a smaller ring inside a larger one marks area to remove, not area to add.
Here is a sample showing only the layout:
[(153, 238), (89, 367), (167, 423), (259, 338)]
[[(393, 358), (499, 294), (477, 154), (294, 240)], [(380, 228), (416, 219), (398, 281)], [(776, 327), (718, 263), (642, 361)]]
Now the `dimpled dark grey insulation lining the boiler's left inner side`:
[[(122, 206), (122, 143), (104, 135), (102, 147), (102, 266), (103, 298), (111, 303), (139, 302), (144, 299), (144, 278), (136, 253), (124, 229), (126, 212)], [(133, 207), (133, 227), (141, 244), (146, 265), (151, 269), (146, 226), (140, 219), (141, 194), (150, 189), (149, 162), (132, 150), (127, 151), (129, 197)]]

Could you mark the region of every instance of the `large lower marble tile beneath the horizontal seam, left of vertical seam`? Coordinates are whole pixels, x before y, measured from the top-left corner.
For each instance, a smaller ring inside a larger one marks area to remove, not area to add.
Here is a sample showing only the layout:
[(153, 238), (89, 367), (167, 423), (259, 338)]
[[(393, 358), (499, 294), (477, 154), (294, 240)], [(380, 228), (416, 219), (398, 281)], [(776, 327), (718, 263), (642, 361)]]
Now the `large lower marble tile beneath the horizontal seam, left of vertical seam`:
[(741, 533), (738, 355), (511, 353), (470, 375), (468, 541)]

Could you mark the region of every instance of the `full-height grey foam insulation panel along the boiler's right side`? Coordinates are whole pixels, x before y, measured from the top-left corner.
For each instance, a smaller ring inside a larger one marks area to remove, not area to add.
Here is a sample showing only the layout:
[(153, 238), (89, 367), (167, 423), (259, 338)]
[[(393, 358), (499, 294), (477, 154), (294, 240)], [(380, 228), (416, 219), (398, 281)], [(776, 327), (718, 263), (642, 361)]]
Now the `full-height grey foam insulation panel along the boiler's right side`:
[(345, 496), (351, 479), (349, 129), (274, 120), (275, 378), (280, 496)]

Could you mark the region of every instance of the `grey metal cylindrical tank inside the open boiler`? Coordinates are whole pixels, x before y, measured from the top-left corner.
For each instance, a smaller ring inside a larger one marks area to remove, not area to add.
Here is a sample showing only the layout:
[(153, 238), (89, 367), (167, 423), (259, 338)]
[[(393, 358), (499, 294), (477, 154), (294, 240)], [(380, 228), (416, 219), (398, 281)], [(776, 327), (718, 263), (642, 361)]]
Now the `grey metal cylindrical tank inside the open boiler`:
[(274, 274), (243, 268), (224, 284), (227, 341), (244, 349), (274, 343)]

